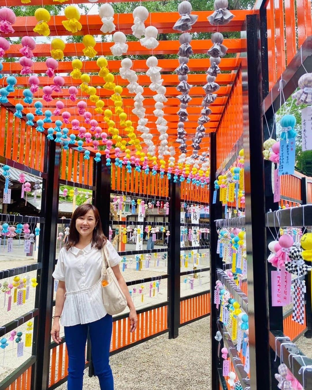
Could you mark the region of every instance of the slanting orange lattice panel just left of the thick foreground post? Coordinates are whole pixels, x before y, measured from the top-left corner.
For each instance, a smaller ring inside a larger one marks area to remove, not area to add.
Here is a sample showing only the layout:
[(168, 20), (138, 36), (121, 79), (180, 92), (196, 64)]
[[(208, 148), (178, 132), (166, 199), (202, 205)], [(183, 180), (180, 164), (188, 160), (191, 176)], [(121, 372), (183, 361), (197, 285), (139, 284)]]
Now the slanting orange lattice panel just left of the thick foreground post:
[(216, 132), (217, 168), (226, 160), (242, 134), (243, 89), (242, 74), (239, 69)]

